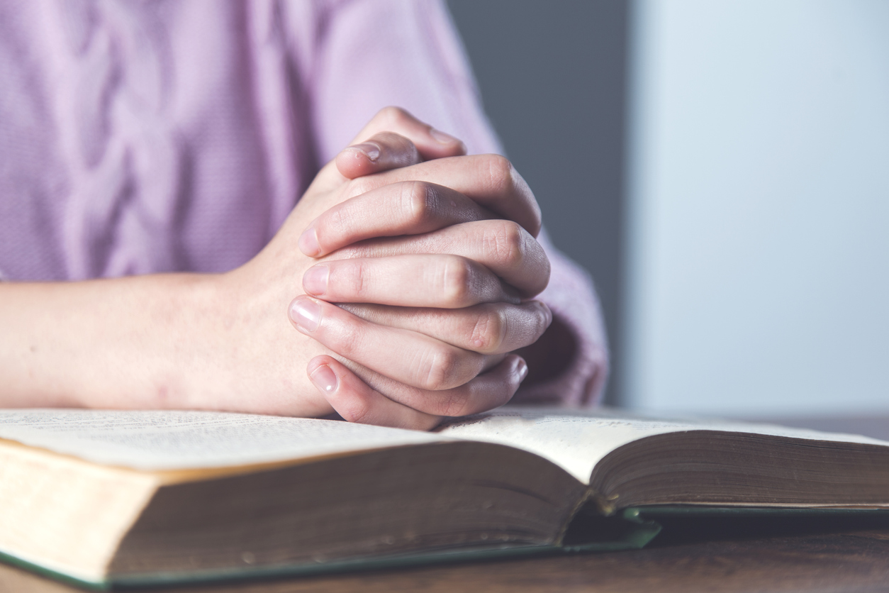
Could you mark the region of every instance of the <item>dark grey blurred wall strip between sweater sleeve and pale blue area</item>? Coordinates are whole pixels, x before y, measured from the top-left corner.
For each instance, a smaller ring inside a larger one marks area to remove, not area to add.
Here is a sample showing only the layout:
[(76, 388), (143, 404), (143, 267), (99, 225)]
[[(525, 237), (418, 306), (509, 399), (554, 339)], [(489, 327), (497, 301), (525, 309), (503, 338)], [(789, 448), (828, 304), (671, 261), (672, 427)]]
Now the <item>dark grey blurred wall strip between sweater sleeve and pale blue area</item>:
[[(533, 188), (554, 243), (595, 279), (620, 400), (628, 4), (449, 0), (485, 110)], [(616, 372), (615, 372), (616, 371)]]

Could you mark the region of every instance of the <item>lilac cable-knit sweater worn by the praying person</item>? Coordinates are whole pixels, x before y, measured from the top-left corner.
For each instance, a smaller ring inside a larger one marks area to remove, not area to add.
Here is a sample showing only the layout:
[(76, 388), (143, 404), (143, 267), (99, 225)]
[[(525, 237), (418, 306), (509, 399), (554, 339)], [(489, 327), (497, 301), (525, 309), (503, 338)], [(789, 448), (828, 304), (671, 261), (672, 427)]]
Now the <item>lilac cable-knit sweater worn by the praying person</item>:
[[(387, 105), (501, 152), (437, 0), (0, 0), (0, 279), (236, 268)], [(516, 401), (590, 403), (596, 295), (541, 242), (577, 348)]]

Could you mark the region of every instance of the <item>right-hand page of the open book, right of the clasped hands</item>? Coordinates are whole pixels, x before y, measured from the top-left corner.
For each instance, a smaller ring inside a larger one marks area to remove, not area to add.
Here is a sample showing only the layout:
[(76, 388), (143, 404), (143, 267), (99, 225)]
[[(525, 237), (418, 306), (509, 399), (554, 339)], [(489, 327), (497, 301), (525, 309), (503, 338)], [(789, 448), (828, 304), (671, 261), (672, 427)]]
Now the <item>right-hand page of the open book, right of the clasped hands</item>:
[(580, 410), (530, 405), (509, 405), (489, 413), (469, 416), (445, 425), (438, 432), (446, 437), (509, 445), (536, 453), (556, 463), (583, 484), (589, 484), (589, 477), (596, 464), (621, 445), (640, 438), (688, 430), (750, 432), (774, 437), (889, 446), (889, 442), (870, 437), (790, 429), (771, 424), (658, 420), (624, 410)]

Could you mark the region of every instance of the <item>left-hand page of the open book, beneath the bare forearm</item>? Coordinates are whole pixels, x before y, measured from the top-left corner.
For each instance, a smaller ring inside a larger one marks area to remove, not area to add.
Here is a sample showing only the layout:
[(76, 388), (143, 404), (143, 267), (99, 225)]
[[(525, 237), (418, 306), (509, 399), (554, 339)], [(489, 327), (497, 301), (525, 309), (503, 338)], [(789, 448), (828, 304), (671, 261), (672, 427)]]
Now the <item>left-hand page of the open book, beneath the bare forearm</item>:
[(219, 468), (449, 440), (414, 430), (240, 413), (0, 410), (0, 438), (133, 469)]

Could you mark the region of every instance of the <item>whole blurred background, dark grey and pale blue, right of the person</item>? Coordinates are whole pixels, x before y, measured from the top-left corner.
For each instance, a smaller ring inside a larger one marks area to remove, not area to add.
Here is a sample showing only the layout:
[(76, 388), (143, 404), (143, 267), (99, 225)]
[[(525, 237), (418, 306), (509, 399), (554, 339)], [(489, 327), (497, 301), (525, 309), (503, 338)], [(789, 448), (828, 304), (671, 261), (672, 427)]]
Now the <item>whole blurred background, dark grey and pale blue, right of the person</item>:
[(449, 0), (607, 402), (889, 412), (889, 2)]

